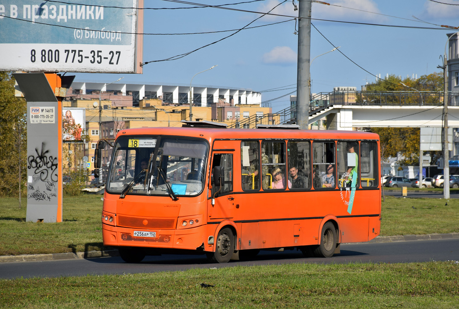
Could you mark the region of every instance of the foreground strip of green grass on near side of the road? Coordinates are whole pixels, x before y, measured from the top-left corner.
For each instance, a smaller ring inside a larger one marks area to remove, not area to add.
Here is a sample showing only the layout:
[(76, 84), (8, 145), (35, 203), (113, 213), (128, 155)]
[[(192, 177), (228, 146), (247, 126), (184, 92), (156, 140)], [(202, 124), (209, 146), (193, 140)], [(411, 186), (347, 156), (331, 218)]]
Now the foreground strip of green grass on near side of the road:
[(448, 309), (458, 281), (457, 262), (235, 266), (0, 280), (0, 307)]

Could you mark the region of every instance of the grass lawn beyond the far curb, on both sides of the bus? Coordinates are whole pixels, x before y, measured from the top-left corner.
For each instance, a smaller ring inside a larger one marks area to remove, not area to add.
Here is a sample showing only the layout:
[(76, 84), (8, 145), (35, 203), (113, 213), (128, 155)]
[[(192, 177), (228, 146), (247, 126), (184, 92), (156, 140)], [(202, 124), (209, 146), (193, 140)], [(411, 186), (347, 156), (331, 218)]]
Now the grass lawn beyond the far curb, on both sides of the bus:
[[(414, 208), (416, 209), (414, 209)], [(386, 197), (381, 236), (459, 232), (459, 200)], [(62, 223), (25, 222), (26, 207), (0, 199), (0, 255), (102, 250), (100, 195), (64, 197)]]

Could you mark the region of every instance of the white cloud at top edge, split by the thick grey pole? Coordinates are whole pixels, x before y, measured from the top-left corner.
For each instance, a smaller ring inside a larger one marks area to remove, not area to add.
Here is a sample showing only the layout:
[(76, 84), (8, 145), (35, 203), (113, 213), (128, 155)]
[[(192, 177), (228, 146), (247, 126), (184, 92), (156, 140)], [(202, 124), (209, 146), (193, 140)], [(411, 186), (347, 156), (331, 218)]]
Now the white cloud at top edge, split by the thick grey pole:
[[(278, 5), (280, 1), (278, 0), (268, 0), (268, 2), (263, 5), (258, 6), (257, 11), (259, 12), (268, 12), (274, 6)], [(298, 6), (298, 1), (296, 1)], [(330, 6), (321, 3), (313, 3), (311, 14), (313, 18), (319, 19), (353, 19), (358, 21), (383, 21), (386, 20), (386, 17), (382, 15), (377, 15), (373, 13), (381, 13), (378, 9), (378, 6), (373, 0), (330, 0)], [(370, 13), (373, 12), (373, 13)], [(285, 2), (284, 4), (276, 7), (273, 11), (273, 14), (280, 14), (286, 16), (297, 17), (298, 11), (294, 11), (293, 4), (291, 1)], [(266, 15), (262, 19), (265, 22), (273, 22), (284, 20), (288, 17), (272, 16)]]

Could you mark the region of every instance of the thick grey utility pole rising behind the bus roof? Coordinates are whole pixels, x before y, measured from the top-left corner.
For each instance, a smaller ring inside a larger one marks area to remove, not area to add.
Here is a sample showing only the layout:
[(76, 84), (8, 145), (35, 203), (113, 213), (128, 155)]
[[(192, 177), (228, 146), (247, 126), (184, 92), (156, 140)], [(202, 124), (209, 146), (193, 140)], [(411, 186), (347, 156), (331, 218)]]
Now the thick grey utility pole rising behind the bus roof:
[(298, 1), (297, 124), (308, 129), (311, 59), (311, 0)]

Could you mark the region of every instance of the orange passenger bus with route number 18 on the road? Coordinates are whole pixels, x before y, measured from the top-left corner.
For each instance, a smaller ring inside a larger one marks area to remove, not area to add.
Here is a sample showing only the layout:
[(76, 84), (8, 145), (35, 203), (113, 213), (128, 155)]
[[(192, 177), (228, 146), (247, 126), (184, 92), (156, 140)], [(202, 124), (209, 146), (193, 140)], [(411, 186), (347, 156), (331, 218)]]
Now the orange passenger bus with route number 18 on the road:
[(226, 263), (292, 249), (331, 257), (379, 235), (378, 135), (182, 122), (118, 132), (102, 235), (124, 261), (195, 252)]

